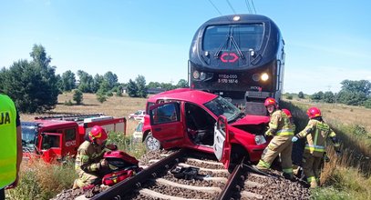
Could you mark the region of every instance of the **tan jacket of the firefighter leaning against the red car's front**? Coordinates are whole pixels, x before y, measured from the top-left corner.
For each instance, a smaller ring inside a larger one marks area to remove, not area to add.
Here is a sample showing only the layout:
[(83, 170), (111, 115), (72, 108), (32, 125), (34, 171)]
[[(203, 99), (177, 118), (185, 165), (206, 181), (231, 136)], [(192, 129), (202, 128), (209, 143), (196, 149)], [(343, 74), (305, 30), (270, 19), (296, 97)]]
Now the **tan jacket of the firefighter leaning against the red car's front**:
[(269, 129), (265, 132), (265, 135), (294, 135), (289, 117), (279, 109), (273, 111), (269, 122)]

